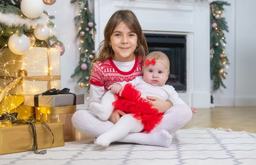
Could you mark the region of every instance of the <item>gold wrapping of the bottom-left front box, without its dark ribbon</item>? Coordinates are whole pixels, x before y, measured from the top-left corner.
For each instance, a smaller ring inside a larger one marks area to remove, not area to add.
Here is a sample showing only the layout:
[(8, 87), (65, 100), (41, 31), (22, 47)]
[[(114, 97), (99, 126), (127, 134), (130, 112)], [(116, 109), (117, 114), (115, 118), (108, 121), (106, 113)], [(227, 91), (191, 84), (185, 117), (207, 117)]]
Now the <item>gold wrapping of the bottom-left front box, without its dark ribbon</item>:
[[(6, 153), (25, 152), (33, 148), (33, 134), (28, 124), (8, 125), (0, 122), (0, 155)], [(38, 150), (64, 146), (64, 123), (47, 123), (54, 134), (52, 144), (52, 134), (44, 125), (36, 123), (36, 137)], [(8, 127), (9, 126), (9, 127)], [(11, 126), (11, 127), (10, 127)]]

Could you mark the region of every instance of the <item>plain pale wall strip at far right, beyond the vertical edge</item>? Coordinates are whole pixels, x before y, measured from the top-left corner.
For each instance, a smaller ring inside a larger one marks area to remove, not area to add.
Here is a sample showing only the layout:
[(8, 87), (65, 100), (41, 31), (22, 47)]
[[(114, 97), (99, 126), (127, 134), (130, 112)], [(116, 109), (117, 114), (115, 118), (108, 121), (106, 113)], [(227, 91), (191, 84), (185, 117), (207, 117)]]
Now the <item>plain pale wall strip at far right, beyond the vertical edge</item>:
[(256, 105), (256, 1), (236, 0), (236, 106)]

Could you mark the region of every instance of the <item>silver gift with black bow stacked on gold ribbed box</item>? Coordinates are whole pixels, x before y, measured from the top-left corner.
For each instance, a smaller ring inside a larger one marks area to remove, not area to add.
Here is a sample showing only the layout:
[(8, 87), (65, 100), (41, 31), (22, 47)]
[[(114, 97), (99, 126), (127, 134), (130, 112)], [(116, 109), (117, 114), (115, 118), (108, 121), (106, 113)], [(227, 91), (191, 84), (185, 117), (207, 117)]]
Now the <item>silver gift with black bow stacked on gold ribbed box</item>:
[(24, 105), (35, 107), (37, 120), (65, 123), (65, 141), (76, 140), (76, 130), (71, 118), (77, 104), (84, 104), (84, 94), (70, 93), (68, 88), (51, 89), (40, 95), (24, 96)]

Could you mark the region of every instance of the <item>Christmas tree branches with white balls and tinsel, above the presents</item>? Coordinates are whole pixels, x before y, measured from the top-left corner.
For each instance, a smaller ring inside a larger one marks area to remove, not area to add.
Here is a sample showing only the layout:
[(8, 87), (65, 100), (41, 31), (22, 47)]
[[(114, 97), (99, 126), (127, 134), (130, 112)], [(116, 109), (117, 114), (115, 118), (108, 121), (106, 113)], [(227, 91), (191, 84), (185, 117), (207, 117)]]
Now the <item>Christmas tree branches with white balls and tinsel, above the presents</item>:
[[(15, 54), (23, 54), (33, 47), (65, 48), (51, 32), (53, 15), (48, 15), (44, 5), (56, 0), (1, 0), (0, 47), (8, 47)], [(1, 52), (0, 52), (1, 53)]]

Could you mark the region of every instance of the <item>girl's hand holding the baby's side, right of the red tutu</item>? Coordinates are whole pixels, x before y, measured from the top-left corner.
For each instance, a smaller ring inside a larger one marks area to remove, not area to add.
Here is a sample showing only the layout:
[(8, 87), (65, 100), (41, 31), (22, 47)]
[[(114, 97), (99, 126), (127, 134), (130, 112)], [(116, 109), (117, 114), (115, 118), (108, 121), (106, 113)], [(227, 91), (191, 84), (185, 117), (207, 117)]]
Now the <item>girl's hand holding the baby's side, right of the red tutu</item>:
[(165, 113), (170, 107), (173, 106), (170, 100), (161, 100), (158, 97), (147, 96), (148, 100), (152, 100), (152, 107), (158, 109), (159, 113)]

